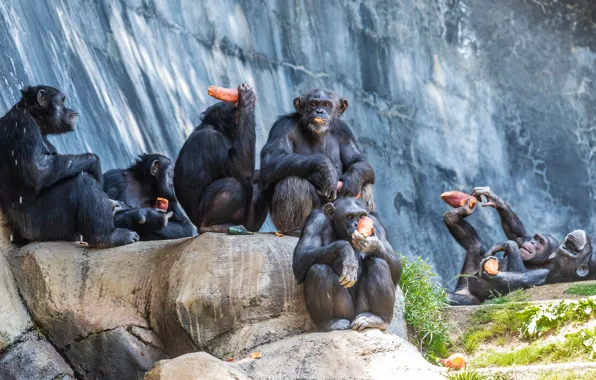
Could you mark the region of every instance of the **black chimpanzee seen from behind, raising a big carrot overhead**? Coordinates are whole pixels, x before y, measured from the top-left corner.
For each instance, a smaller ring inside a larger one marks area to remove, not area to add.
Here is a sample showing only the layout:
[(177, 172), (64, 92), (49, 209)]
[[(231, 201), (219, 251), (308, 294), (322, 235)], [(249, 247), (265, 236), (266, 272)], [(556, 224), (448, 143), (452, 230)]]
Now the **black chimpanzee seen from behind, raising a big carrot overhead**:
[(243, 225), (258, 231), (267, 205), (255, 172), (255, 91), (241, 84), (238, 103), (207, 108), (178, 155), (174, 187), (199, 232)]

